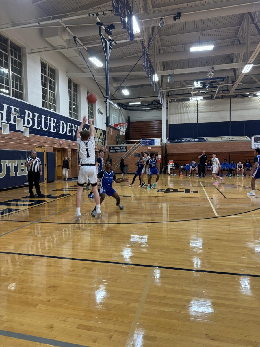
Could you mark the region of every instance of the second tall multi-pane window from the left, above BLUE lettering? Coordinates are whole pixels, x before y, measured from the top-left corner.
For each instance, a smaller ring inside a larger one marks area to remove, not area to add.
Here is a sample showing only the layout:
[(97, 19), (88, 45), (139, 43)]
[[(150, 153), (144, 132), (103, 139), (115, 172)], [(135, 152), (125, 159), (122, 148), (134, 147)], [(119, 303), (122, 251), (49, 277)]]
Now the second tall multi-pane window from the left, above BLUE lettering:
[(56, 111), (56, 76), (55, 69), (41, 61), (42, 107)]

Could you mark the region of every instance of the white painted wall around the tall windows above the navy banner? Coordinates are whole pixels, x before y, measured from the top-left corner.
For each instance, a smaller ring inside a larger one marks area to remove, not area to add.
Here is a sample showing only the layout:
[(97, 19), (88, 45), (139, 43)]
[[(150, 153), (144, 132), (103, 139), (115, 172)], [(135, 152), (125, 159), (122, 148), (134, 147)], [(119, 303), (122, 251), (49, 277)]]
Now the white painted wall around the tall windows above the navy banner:
[[(15, 10), (14, 10), (15, 9)], [(36, 5), (32, 5), (32, 0), (10, 0), (5, 1), (5, 6), (1, 7), (0, 23), (11, 23), (28, 18), (46, 16)], [(71, 60), (61, 52), (49, 52), (41, 54), (29, 54), (32, 48), (42, 48), (51, 46), (43, 38), (42, 29), (11, 29), (2, 31), (2, 35), (9, 37), (12, 41), (23, 47), (24, 65), (24, 101), (42, 108), (41, 95), (41, 59), (52, 65), (57, 72), (57, 111), (64, 117), (69, 117), (69, 92), (67, 73), (83, 72)], [(106, 129), (106, 106), (104, 98), (92, 78), (72, 78), (79, 85), (79, 119), (87, 115), (87, 92), (92, 91), (97, 94), (95, 104), (95, 126)], [(103, 88), (102, 88), (103, 90)], [(103, 93), (105, 91), (103, 90)], [(5, 94), (4, 94), (5, 95)], [(100, 108), (103, 115), (97, 113)]]

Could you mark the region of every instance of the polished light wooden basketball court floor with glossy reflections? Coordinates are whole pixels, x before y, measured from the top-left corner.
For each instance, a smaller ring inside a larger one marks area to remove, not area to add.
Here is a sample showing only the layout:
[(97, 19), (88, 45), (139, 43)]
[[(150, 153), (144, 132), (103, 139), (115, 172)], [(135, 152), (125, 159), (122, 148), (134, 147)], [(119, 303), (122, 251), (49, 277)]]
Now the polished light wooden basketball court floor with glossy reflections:
[(100, 220), (85, 190), (78, 224), (76, 181), (0, 192), (0, 346), (260, 347), (250, 180), (114, 184)]

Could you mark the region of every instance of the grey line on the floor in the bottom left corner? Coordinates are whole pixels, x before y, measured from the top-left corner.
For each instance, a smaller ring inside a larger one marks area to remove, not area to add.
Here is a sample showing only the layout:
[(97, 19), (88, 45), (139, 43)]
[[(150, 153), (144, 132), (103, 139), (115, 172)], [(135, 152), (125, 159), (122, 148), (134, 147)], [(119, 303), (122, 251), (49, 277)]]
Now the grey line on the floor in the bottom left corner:
[(19, 340), (33, 341), (40, 344), (53, 345), (58, 347), (89, 347), (86, 345), (72, 344), (70, 342), (52, 340), (46, 337), (27, 335), (27, 334), (22, 334), (20, 332), (13, 332), (8, 330), (0, 330), (0, 336), (7, 336), (7, 337), (19, 339)]

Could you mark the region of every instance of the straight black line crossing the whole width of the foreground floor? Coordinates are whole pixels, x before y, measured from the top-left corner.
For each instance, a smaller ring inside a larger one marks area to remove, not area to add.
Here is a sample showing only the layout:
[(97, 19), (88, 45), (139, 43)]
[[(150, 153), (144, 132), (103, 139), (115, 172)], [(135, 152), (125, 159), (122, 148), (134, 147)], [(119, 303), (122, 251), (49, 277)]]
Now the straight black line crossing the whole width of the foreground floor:
[(248, 277), (258, 277), (258, 278), (260, 278), (260, 274), (259, 275), (253, 275), (253, 274), (249, 274), (249, 273), (239, 273), (239, 272), (224, 272), (224, 271), (213, 271), (213, 270), (175, 268), (173, 266), (137, 264), (137, 263), (123, 263), (123, 262), (115, 262), (115, 261), (109, 261), (109, 260), (95, 260), (95, 259), (84, 259), (84, 258), (61, 257), (61, 256), (58, 256), (58, 255), (29, 254), (29, 253), (17, 253), (17, 252), (5, 252), (5, 251), (0, 251), (0, 254), (24, 255), (24, 256), (39, 257), (39, 258), (76, 260), (76, 261), (84, 261), (84, 262), (89, 262), (89, 263), (139, 266), (139, 267), (143, 267), (143, 268), (179, 270), (179, 271), (190, 271), (190, 272), (201, 272), (201, 273), (216, 273), (216, 274), (230, 275), (230, 276), (248, 276)]

